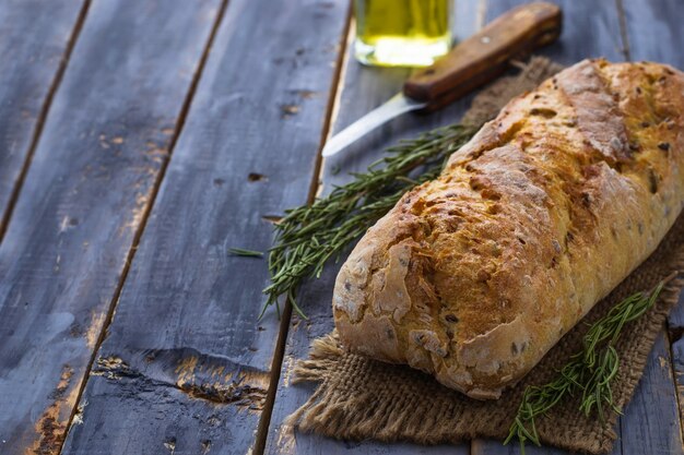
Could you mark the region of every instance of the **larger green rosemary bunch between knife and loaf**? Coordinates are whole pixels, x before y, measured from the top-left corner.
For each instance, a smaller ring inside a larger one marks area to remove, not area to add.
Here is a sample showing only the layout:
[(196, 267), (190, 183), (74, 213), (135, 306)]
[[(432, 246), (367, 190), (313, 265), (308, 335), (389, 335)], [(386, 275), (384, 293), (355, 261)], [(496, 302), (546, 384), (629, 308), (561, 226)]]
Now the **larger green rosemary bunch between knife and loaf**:
[[(269, 251), (271, 285), (261, 314), (282, 295), (299, 315), (296, 291), (307, 277), (320, 277), (323, 266), (382, 217), (411, 188), (436, 178), (446, 158), (468, 142), (477, 128), (452, 124), (403, 141), (354, 179), (332, 192), (285, 212), (275, 225), (275, 240)], [(417, 169), (422, 167), (420, 172)], [(415, 175), (417, 173), (417, 175)], [(413, 176), (413, 177), (412, 177)]]

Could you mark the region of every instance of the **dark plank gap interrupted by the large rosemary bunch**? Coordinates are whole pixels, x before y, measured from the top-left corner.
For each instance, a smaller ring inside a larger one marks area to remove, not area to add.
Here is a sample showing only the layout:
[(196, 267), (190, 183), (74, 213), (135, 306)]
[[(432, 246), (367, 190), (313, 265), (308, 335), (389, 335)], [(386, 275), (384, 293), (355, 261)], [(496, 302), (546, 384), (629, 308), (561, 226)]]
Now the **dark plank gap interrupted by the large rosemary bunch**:
[[(321, 172), (322, 172), (322, 164), (323, 157), (321, 152), (323, 149), (323, 145), (329, 139), (331, 127), (334, 122), (334, 119), (338, 115), (340, 107), (340, 98), (343, 89), (343, 81), (344, 70), (346, 68), (347, 59), (346, 59), (346, 49), (351, 44), (351, 37), (353, 34), (352, 27), (352, 2), (349, 2), (346, 19), (344, 28), (342, 31), (342, 35), (340, 36), (340, 43), (338, 45), (338, 58), (335, 61), (335, 70), (332, 76), (332, 83), (330, 85), (330, 92), (328, 95), (328, 106), (326, 107), (326, 115), (323, 118), (323, 127), (321, 129), (320, 141), (318, 144), (318, 151), (315, 157), (314, 171), (311, 173), (311, 182), (309, 184), (309, 192), (307, 195), (306, 203), (311, 204), (316, 199), (320, 188), (321, 188)], [(292, 304), (290, 301), (285, 301), (285, 306), (283, 309), (283, 313), (281, 315), (280, 328), (278, 333), (278, 342), (275, 344), (275, 350), (273, 352), (273, 360), (271, 362), (271, 376), (269, 379), (269, 390), (266, 397), (266, 403), (263, 405), (263, 410), (261, 411), (261, 418), (259, 420), (259, 426), (257, 427), (257, 434), (255, 436), (255, 445), (251, 453), (253, 455), (263, 455), (266, 450), (266, 442), (269, 435), (269, 428), (271, 424), (271, 415), (273, 412), (273, 406), (275, 404), (275, 396), (278, 394), (278, 385), (280, 382), (280, 373), (283, 364), (283, 358), (285, 356), (285, 345), (287, 344), (287, 334), (290, 333), (290, 320), (292, 318)]]

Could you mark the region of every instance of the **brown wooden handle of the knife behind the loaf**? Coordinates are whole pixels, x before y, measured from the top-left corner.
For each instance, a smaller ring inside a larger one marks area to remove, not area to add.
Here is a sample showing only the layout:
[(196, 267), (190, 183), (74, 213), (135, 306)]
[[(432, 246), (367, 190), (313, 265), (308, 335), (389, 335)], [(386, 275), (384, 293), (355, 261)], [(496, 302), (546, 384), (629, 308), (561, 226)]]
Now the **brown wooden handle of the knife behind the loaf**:
[(561, 35), (561, 8), (546, 2), (528, 3), (504, 13), (477, 34), (457, 45), (432, 67), (404, 83), (404, 94), (439, 109), (506, 70), (508, 61), (523, 58)]

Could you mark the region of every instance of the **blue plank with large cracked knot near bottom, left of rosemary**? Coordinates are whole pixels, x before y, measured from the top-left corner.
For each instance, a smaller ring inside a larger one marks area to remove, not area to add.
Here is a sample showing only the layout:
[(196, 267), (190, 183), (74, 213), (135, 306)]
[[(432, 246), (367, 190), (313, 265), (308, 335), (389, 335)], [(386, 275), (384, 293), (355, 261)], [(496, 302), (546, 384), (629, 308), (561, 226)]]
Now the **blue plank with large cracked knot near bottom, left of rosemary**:
[(308, 196), (347, 8), (228, 3), (64, 454), (252, 450), (280, 324), (228, 249)]

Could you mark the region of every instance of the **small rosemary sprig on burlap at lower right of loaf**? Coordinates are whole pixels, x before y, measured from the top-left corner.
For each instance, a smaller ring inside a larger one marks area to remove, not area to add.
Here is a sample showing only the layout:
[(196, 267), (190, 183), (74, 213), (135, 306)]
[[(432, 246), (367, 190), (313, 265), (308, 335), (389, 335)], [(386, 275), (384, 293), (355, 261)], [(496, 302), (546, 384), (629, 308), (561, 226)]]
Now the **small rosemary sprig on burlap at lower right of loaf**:
[(567, 395), (581, 394), (579, 409), (589, 416), (595, 407), (601, 422), (605, 422), (605, 407), (621, 412), (611, 388), (620, 368), (615, 344), (624, 325), (639, 319), (653, 306), (669, 278), (660, 282), (649, 294), (637, 292), (613, 307), (589, 327), (582, 338), (582, 350), (570, 358), (556, 379), (526, 388), (504, 444), (517, 438), (522, 455), (526, 441), (541, 445), (534, 419), (545, 415)]

